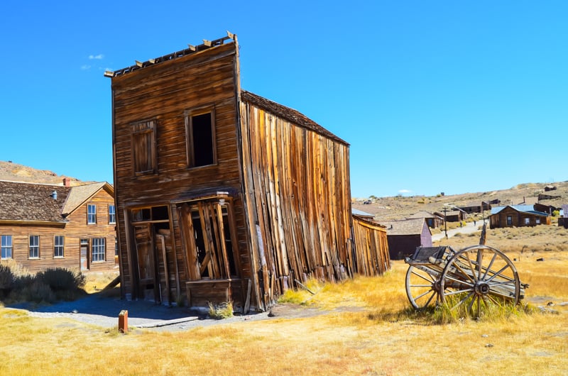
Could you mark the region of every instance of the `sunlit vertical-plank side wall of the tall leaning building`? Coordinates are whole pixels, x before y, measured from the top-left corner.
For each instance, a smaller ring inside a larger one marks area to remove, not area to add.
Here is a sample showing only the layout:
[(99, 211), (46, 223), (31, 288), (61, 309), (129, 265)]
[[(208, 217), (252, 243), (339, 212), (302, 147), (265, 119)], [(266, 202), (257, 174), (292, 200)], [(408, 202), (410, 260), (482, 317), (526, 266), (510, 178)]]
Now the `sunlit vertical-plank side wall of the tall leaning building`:
[(241, 127), (261, 304), (295, 280), (351, 276), (349, 146), (244, 100)]

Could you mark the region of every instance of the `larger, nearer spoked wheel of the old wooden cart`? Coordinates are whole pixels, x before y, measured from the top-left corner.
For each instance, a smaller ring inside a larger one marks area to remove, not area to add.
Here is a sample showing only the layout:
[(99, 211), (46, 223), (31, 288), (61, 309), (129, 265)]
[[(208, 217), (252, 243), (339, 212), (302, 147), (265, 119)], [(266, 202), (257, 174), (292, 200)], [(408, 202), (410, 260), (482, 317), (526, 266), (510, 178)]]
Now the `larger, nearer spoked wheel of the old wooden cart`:
[(517, 304), (520, 280), (513, 262), (500, 250), (474, 245), (457, 252), (440, 277), (440, 299), (452, 310), (460, 306), (476, 317), (493, 304)]

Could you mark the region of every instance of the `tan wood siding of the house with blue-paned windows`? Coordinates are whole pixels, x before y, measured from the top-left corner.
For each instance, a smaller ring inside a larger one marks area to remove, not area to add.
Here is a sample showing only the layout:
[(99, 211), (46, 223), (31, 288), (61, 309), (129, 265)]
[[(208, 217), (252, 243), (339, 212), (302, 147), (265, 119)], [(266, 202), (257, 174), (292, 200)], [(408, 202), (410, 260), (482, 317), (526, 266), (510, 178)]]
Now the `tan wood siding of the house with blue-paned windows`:
[[(97, 205), (97, 224), (87, 224), (87, 205)], [(117, 271), (114, 260), (115, 231), (114, 223), (109, 223), (109, 205), (114, 198), (104, 189), (89, 201), (67, 216), (65, 226), (23, 226), (21, 223), (1, 225), (1, 235), (12, 236), (12, 258), (29, 272), (39, 272), (48, 268), (65, 267), (80, 270), (80, 240), (89, 240), (89, 260), (92, 238), (105, 239), (105, 260), (89, 262), (89, 271)], [(39, 258), (29, 258), (29, 237), (39, 236)], [(55, 236), (65, 236), (64, 256), (54, 257)]]

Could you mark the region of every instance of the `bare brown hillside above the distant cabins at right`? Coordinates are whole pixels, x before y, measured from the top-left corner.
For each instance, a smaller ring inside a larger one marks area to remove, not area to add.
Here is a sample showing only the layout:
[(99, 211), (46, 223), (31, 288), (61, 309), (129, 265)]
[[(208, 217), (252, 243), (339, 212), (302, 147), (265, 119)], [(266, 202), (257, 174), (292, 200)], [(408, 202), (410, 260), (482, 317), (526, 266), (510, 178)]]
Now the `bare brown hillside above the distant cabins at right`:
[[(545, 192), (546, 186), (554, 186), (557, 189)], [(559, 196), (555, 199), (538, 201), (539, 194)], [(518, 184), (510, 189), (500, 189), (491, 192), (477, 192), (453, 194), (446, 196), (409, 196), (409, 197), (373, 197), (370, 199), (354, 199), (354, 209), (374, 214), (375, 219), (390, 220), (404, 219), (418, 211), (442, 212), (444, 204), (455, 206), (480, 205), (481, 201), (501, 200), (501, 205), (510, 204), (540, 204), (562, 206), (568, 204), (568, 182), (556, 183), (525, 183)], [(370, 202), (370, 204), (364, 204)]]

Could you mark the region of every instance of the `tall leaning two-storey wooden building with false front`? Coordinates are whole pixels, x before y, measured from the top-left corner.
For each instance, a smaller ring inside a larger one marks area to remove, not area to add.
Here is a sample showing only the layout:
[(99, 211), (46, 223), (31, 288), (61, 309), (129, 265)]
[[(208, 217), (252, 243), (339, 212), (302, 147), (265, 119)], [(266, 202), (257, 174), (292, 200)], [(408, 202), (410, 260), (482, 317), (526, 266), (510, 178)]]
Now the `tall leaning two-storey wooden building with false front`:
[(354, 248), (349, 145), (241, 90), (235, 35), (105, 75), (126, 299), (265, 310), (383, 270)]

